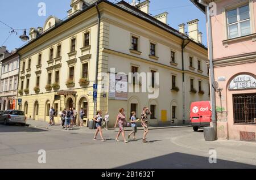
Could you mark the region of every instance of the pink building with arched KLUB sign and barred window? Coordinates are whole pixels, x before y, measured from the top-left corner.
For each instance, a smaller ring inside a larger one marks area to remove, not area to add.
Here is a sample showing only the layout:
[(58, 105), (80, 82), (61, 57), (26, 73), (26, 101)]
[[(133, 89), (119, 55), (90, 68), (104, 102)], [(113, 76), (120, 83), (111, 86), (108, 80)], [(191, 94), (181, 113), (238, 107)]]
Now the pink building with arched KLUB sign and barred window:
[[(191, 0), (205, 13), (205, 7)], [(256, 0), (212, 2), (218, 139), (255, 141)]]

